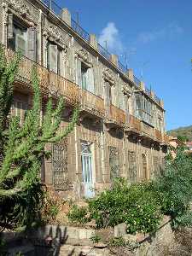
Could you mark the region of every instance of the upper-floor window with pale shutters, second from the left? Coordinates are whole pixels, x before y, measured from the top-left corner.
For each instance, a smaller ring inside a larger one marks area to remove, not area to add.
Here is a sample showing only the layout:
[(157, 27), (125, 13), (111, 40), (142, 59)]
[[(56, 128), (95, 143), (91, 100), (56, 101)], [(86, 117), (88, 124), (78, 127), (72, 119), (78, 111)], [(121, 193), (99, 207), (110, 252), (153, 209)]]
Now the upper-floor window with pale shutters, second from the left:
[(61, 48), (52, 42), (48, 42), (47, 68), (49, 71), (61, 74)]

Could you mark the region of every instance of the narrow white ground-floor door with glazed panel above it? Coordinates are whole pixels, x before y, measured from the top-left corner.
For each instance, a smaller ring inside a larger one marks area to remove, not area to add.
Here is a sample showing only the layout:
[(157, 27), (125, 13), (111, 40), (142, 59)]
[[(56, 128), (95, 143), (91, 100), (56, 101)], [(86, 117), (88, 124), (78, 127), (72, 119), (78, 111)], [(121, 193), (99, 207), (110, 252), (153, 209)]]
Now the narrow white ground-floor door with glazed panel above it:
[(94, 197), (95, 195), (91, 144), (92, 143), (89, 142), (81, 143), (81, 164), (84, 183), (84, 196), (87, 198)]

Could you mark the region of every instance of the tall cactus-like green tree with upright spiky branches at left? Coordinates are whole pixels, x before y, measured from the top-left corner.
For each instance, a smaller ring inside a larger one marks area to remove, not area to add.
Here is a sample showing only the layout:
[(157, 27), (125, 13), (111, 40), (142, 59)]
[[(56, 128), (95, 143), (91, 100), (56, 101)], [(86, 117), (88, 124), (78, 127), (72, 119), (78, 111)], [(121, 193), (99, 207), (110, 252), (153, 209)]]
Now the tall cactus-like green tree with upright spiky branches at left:
[(44, 198), (39, 171), (43, 157), (49, 155), (45, 144), (67, 137), (79, 117), (79, 108), (75, 108), (67, 128), (58, 131), (64, 108), (60, 97), (55, 109), (49, 99), (40, 124), (41, 91), (33, 67), (32, 109), (26, 112), (24, 124), (20, 126), (18, 117), (9, 116), (19, 64), (20, 54), (7, 61), (0, 49), (0, 226), (3, 228), (27, 226), (39, 218)]

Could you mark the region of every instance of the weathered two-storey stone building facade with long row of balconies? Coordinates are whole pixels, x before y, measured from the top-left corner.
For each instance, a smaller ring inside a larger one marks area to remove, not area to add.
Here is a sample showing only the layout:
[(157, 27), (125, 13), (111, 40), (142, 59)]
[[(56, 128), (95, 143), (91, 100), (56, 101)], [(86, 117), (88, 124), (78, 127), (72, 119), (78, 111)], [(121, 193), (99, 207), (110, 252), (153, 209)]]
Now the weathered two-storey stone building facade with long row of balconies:
[(23, 54), (12, 113), (22, 124), (32, 107), (36, 63), (44, 103), (63, 96), (61, 129), (80, 105), (79, 123), (64, 141), (49, 144), (44, 183), (71, 196), (90, 197), (113, 177), (154, 177), (166, 153), (163, 102), (75, 22), (67, 9), (44, 0), (0, 0), (0, 42), (8, 57)]

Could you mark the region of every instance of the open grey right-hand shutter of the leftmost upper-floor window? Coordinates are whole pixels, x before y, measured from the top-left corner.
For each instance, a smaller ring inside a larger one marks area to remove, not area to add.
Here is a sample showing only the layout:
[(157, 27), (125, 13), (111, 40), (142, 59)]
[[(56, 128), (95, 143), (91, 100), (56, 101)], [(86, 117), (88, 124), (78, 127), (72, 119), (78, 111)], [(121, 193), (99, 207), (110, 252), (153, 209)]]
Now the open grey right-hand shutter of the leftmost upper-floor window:
[(37, 49), (37, 33), (34, 27), (29, 27), (27, 30), (27, 56), (32, 61), (36, 61)]

